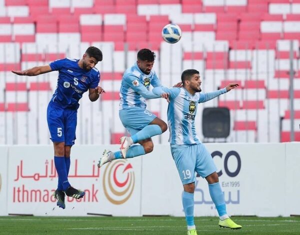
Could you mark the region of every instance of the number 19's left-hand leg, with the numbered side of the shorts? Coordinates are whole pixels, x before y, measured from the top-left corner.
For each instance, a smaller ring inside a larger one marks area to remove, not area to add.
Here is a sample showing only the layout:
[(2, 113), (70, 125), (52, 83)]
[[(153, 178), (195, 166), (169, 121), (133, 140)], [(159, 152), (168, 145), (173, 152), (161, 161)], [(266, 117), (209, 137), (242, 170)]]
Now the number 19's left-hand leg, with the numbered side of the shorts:
[(197, 234), (194, 224), (195, 154), (192, 146), (171, 148), (181, 182), (183, 184), (182, 205), (187, 225), (187, 234)]

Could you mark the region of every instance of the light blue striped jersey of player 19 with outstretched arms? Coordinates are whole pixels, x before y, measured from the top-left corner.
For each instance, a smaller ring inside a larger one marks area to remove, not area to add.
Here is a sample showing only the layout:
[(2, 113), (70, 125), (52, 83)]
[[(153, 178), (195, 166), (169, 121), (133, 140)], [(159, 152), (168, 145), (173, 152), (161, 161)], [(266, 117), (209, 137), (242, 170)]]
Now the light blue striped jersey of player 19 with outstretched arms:
[(169, 93), (167, 108), (167, 122), (170, 131), (169, 142), (172, 147), (183, 147), (185, 144), (200, 143), (195, 131), (195, 115), (198, 103), (206, 102), (216, 96), (227, 92), (226, 88), (209, 93), (196, 92), (190, 94), (183, 87), (157, 87), (154, 94)]

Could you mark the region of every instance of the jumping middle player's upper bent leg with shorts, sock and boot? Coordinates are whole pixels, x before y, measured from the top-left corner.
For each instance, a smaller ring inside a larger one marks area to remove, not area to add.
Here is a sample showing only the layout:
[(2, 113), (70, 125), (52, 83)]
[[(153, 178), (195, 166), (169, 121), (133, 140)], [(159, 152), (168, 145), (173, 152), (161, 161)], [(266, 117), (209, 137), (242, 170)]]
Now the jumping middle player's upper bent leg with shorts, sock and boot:
[(133, 143), (161, 134), (167, 129), (166, 123), (148, 110), (141, 108), (122, 109), (119, 111), (119, 115), (126, 128), (140, 129), (135, 134), (131, 134), (130, 137), (123, 136), (120, 138), (120, 150), (123, 158), (126, 157), (126, 153)]

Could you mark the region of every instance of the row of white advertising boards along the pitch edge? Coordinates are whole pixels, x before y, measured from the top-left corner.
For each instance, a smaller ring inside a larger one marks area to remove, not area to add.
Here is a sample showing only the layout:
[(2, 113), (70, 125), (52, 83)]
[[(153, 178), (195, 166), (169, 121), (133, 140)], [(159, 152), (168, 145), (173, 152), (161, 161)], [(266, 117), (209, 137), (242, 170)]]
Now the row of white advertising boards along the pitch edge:
[[(300, 214), (300, 143), (207, 143), (218, 168), (229, 215)], [(133, 159), (96, 164), (105, 148), (118, 145), (74, 145), (69, 181), (84, 189), (66, 208), (52, 196), (57, 173), (51, 145), (0, 146), (0, 215), (183, 216), (182, 185), (169, 145)], [(196, 177), (196, 216), (217, 215), (205, 179)]]

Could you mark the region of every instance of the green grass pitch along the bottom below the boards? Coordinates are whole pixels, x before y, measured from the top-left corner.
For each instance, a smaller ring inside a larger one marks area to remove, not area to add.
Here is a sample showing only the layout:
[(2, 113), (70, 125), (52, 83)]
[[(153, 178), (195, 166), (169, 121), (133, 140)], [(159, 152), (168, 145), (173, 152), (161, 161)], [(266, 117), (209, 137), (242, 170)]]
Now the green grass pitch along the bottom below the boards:
[[(220, 228), (217, 217), (196, 217), (198, 234), (300, 234), (300, 217), (234, 216), (243, 227)], [(183, 217), (0, 216), (0, 234), (186, 234)]]

